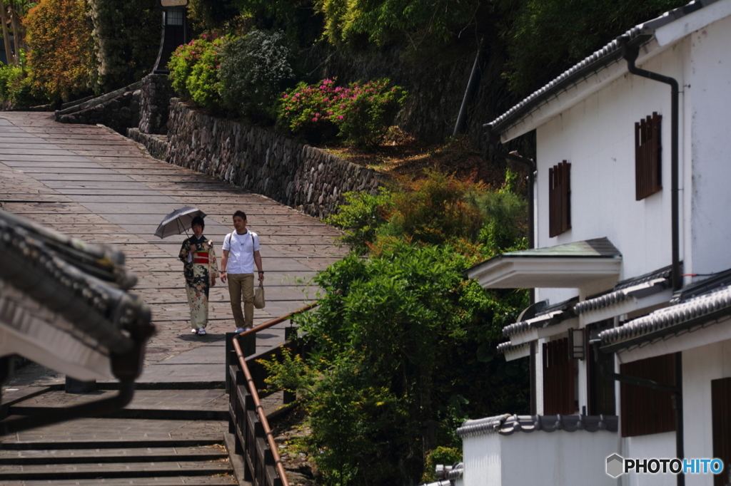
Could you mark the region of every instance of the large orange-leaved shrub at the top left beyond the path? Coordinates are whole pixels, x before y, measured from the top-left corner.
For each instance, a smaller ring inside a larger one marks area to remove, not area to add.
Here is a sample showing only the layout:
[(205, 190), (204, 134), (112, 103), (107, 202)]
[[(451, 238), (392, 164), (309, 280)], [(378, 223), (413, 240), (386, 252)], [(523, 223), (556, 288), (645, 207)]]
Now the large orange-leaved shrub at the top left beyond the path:
[(23, 21), (33, 89), (50, 101), (68, 101), (96, 88), (96, 45), (86, 0), (45, 0)]

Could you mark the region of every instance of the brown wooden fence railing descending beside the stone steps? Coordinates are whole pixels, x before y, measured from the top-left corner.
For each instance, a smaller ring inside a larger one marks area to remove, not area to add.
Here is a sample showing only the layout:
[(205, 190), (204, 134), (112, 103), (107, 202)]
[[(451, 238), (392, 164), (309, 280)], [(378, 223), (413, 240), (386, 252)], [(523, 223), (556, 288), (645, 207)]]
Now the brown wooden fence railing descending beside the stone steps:
[[(283, 344), (258, 353), (256, 334), (314, 306), (317, 306), (317, 303), (258, 325), (250, 331), (226, 335), (229, 433), (235, 437), (235, 454), (243, 456), (243, 479), (254, 486), (289, 486), (279, 457), (279, 449), (260, 401), (260, 390), (265, 390), (268, 394), (276, 390), (267, 390), (264, 381), (267, 377), (266, 369), (257, 363), (257, 360), (279, 356), (285, 348), (300, 354), (299, 347), (293, 341), (295, 328), (286, 328)], [(292, 403), (294, 400), (295, 396), (284, 393), (284, 404)]]

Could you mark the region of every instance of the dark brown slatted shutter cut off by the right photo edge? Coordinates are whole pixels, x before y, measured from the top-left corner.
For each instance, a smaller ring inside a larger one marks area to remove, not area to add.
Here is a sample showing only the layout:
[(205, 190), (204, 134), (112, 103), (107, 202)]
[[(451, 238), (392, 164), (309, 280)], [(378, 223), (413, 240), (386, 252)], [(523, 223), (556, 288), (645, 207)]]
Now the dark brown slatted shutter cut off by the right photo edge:
[(711, 380), (711, 430), (713, 457), (724, 461), (724, 472), (713, 477), (713, 486), (724, 486), (731, 467), (731, 378)]

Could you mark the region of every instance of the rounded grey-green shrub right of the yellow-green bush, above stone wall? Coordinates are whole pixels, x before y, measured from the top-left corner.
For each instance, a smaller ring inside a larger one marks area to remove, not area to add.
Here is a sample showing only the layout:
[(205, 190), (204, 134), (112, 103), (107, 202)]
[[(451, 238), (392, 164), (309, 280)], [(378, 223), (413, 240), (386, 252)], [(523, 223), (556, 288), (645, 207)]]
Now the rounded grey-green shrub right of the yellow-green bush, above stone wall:
[(276, 119), (279, 93), (295, 76), (292, 57), (282, 31), (252, 31), (229, 39), (219, 70), (224, 104), (253, 120)]

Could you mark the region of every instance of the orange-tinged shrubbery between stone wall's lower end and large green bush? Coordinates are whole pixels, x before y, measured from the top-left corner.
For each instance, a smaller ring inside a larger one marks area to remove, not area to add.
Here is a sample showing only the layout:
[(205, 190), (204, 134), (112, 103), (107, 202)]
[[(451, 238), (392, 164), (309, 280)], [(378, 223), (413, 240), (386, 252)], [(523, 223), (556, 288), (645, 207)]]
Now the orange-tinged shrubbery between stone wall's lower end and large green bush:
[(524, 247), (526, 201), (513, 192), (517, 174), (507, 171), (506, 184), (490, 190), (480, 183), (426, 171), (377, 196), (347, 193), (346, 204), (325, 220), (344, 228), (341, 241), (362, 255), (376, 253), (393, 239), (423, 244), (449, 243), (469, 252), (470, 245), (503, 252)]

